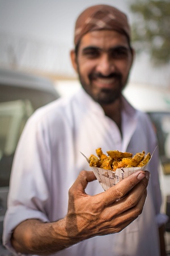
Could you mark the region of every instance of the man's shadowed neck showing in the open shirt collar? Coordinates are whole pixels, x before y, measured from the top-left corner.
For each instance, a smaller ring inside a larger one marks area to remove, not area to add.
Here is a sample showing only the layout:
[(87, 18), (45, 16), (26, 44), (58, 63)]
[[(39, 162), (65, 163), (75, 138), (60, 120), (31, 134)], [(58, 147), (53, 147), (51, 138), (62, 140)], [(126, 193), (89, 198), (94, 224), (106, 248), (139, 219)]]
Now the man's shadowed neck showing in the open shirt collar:
[(118, 98), (112, 104), (101, 105), (105, 115), (111, 118), (121, 131), (121, 98)]

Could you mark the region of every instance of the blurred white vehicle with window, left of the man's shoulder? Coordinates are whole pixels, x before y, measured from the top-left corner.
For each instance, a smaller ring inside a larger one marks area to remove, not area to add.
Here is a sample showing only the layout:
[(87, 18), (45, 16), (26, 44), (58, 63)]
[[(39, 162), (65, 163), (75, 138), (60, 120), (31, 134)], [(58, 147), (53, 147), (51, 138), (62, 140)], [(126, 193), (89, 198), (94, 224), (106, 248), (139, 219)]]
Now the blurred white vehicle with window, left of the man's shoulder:
[(59, 97), (50, 80), (22, 72), (0, 69), (0, 255), (3, 218), (15, 148), (25, 122), (39, 107)]

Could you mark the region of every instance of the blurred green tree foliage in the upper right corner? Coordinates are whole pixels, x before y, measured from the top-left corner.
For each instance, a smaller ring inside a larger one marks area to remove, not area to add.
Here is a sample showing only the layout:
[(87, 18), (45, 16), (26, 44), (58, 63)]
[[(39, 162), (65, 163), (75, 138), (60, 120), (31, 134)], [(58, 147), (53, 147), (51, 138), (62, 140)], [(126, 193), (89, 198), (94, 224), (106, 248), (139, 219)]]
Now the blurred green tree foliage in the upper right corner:
[(138, 52), (145, 51), (156, 65), (170, 63), (170, 1), (133, 0), (132, 40)]

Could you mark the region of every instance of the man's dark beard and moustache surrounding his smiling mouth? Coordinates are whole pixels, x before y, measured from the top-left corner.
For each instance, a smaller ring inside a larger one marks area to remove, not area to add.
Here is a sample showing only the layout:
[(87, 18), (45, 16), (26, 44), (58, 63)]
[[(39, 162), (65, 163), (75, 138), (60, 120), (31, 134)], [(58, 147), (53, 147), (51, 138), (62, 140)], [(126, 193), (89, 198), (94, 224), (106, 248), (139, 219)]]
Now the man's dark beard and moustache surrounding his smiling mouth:
[[(82, 84), (83, 89), (100, 105), (108, 105), (114, 103), (118, 98), (122, 95), (122, 90), (125, 88), (126, 82), (128, 80), (128, 77), (126, 81), (122, 82), (122, 75), (120, 73), (111, 73), (109, 76), (103, 76), (101, 73), (91, 73), (88, 76), (88, 80), (90, 81), (89, 84), (87, 84), (83, 76), (81, 75), (79, 68), (78, 68), (78, 76), (80, 83)], [(101, 79), (112, 79), (116, 81), (116, 85), (114, 85), (112, 88), (100, 88), (97, 89), (95, 92), (92, 89), (93, 84), (92, 81), (94, 79), (101, 78)]]

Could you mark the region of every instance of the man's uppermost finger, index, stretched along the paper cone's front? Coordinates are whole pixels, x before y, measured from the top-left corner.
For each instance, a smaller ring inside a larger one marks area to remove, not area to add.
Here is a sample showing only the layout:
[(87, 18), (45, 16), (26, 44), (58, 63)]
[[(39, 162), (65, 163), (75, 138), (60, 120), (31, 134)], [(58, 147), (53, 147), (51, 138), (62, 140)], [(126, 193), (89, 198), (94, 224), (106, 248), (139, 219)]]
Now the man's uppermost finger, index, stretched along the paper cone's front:
[(103, 200), (105, 205), (109, 205), (124, 197), (135, 185), (137, 185), (143, 179), (143, 192), (147, 188), (149, 172), (148, 171), (137, 171), (134, 174), (131, 174), (126, 179), (120, 181), (115, 186), (109, 188), (107, 191), (102, 193)]

